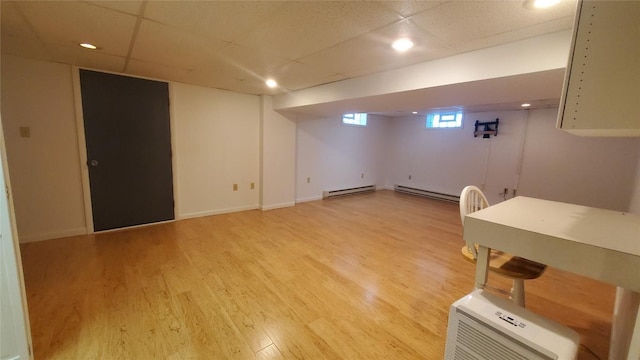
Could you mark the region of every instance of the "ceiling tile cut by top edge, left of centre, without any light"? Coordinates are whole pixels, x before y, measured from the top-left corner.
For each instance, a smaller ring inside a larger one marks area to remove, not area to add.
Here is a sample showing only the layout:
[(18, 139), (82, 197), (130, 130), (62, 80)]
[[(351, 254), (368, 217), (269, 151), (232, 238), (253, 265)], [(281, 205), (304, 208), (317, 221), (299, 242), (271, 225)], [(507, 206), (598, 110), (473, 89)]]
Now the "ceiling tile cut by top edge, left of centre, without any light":
[(211, 39), (235, 41), (286, 1), (150, 1), (145, 18)]

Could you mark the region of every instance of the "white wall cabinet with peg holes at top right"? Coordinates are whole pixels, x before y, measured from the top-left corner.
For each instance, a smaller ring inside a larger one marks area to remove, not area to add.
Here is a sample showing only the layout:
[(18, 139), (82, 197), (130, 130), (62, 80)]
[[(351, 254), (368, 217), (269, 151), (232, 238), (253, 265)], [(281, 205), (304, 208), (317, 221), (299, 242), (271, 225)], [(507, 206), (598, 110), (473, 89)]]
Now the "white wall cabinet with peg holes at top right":
[(640, 2), (580, 1), (557, 127), (640, 136)]

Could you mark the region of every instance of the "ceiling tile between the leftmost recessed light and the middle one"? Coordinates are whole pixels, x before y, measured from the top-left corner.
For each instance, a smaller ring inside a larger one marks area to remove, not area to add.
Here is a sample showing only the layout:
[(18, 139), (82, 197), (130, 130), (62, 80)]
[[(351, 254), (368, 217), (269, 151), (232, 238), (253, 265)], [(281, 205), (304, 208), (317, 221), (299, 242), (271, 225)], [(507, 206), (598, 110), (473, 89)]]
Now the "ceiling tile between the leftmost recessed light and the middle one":
[(167, 25), (143, 20), (131, 56), (137, 60), (195, 69), (227, 45), (223, 41), (205, 39)]

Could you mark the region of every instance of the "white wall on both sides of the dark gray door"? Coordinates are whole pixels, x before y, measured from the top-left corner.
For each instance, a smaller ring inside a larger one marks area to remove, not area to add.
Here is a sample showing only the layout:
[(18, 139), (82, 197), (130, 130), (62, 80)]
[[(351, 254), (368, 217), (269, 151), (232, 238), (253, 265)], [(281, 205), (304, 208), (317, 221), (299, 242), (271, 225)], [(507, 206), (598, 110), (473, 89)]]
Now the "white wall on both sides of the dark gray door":
[[(20, 241), (86, 233), (72, 68), (16, 57), (3, 57), (2, 65)], [(260, 98), (178, 83), (170, 84), (170, 96), (176, 217), (258, 208)], [(30, 127), (30, 138), (20, 137), (21, 126)]]

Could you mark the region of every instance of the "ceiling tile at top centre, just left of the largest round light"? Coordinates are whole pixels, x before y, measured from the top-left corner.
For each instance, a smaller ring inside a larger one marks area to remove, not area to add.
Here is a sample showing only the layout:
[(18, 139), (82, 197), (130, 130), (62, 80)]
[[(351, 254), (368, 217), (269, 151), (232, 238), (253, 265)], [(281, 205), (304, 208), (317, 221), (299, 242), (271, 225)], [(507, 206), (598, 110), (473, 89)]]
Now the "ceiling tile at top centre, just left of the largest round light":
[(288, 2), (239, 45), (298, 59), (400, 20), (375, 1)]

